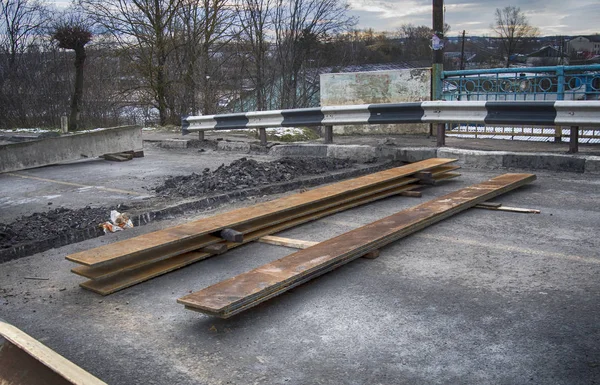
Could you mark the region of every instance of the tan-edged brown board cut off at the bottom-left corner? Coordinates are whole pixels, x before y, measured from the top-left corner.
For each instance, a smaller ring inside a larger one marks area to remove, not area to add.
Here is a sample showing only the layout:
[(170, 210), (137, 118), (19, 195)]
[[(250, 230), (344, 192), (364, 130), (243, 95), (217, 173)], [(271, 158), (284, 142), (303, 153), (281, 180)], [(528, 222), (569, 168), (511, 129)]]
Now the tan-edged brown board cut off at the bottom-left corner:
[(0, 384), (106, 385), (38, 340), (2, 321)]

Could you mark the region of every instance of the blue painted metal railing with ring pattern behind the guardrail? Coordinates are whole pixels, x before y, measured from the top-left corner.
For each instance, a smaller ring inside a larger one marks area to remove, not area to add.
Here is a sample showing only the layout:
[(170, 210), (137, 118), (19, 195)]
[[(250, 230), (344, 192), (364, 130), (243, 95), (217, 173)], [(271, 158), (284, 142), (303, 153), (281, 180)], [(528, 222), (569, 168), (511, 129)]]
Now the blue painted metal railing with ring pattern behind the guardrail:
[[(600, 100), (600, 64), (445, 71), (442, 85), (442, 100)], [(448, 127), (447, 132), (462, 137), (566, 141), (569, 129), (489, 127), (465, 122)], [(600, 131), (582, 129), (580, 141), (600, 143)]]

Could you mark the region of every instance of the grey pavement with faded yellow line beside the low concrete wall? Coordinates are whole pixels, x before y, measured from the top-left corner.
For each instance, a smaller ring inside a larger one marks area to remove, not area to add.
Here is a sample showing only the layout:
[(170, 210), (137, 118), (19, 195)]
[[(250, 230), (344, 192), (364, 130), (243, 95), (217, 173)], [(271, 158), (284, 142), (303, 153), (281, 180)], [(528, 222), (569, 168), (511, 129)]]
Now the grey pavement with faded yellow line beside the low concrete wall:
[[(82, 208), (144, 200), (154, 194), (149, 188), (167, 177), (213, 170), (242, 156), (152, 145), (146, 145), (144, 151), (145, 157), (128, 162), (96, 158), (0, 174), (0, 222), (61, 206)], [(272, 159), (263, 155), (248, 157)]]

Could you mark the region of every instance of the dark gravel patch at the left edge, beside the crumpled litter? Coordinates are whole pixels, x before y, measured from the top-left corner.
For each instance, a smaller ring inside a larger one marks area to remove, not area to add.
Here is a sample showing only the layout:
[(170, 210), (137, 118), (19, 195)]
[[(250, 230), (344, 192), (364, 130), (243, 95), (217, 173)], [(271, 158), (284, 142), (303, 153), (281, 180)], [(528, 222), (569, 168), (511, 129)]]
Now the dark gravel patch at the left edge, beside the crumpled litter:
[[(119, 207), (117, 210), (124, 210)], [(6, 249), (32, 241), (54, 238), (73, 230), (88, 229), (110, 220), (106, 207), (84, 207), (71, 210), (59, 207), (44, 213), (23, 216), (13, 223), (0, 223), (0, 249)]]

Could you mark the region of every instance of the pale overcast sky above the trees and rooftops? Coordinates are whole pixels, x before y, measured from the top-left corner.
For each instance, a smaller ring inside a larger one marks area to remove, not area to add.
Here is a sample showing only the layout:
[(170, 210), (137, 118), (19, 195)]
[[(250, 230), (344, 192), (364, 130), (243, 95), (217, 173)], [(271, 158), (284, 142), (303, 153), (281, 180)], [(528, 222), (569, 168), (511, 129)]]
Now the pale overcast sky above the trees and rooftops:
[[(358, 28), (395, 31), (412, 23), (431, 26), (432, 0), (346, 0), (350, 13), (358, 17)], [(55, 0), (66, 6), (69, 0)], [(600, 0), (446, 0), (446, 23), (450, 36), (462, 30), (469, 35), (493, 35), (496, 8), (514, 5), (527, 15), (542, 35), (584, 35), (600, 33)]]

